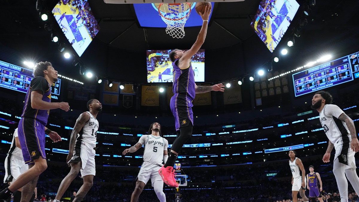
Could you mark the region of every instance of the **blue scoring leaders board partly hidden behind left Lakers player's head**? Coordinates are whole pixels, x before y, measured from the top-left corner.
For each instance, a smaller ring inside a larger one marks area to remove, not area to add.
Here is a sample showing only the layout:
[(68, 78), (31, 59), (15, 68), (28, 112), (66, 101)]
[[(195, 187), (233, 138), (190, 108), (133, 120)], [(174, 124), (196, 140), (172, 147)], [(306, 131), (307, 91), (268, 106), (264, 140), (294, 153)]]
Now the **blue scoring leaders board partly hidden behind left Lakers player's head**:
[[(26, 69), (17, 65), (6, 63), (0, 60), (0, 86), (14, 91), (27, 93), (31, 80), (34, 78), (33, 70)], [(51, 98), (57, 99), (60, 95), (61, 79), (52, 84)]]

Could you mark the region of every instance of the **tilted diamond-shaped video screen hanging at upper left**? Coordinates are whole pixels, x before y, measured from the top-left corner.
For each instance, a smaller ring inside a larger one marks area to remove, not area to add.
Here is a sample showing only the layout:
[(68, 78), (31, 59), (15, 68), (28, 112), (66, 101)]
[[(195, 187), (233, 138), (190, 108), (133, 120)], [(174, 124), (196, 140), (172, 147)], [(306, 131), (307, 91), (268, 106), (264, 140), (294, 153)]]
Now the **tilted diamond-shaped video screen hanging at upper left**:
[(71, 46), (81, 56), (100, 29), (87, 0), (60, 0), (52, 13)]

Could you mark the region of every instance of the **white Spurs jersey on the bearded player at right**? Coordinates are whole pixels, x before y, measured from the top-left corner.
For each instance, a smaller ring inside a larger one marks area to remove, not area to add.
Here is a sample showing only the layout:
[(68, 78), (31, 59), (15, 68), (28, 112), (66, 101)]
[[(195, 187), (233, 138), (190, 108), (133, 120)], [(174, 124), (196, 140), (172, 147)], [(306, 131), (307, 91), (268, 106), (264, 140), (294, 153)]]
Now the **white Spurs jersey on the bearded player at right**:
[(344, 142), (349, 141), (350, 131), (346, 127), (346, 123), (338, 119), (342, 113), (344, 111), (336, 105), (324, 105), (319, 114), (324, 132), (333, 144), (339, 139)]

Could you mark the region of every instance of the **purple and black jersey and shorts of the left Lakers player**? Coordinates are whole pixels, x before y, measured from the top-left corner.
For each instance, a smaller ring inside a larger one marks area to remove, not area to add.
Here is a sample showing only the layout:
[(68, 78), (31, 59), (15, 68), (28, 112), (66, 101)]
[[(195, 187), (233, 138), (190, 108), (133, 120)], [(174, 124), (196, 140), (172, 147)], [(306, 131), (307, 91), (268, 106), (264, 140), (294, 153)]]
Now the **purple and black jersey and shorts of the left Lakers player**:
[(51, 87), (44, 77), (35, 77), (25, 96), (25, 104), (18, 126), (18, 135), (25, 164), (34, 163), (40, 156), (46, 159), (45, 125), (50, 110), (31, 107), (31, 92), (41, 91), (42, 100), (51, 102)]

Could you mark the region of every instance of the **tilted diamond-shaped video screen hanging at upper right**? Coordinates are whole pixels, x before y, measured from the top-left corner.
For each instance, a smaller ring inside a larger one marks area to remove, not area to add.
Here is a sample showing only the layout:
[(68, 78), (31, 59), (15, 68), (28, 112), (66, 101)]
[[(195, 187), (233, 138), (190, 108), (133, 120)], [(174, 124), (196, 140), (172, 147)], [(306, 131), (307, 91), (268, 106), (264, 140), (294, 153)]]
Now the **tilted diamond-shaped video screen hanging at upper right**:
[(273, 52), (287, 31), (299, 4), (295, 0), (262, 0), (251, 27)]

